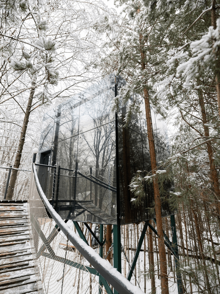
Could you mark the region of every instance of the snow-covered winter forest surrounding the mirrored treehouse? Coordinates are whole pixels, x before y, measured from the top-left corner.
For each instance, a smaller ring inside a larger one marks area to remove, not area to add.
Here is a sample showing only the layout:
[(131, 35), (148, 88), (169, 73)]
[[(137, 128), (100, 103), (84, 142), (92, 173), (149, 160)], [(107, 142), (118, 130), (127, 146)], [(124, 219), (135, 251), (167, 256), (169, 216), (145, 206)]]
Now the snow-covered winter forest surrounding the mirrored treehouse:
[[(108, 74), (120, 75), (127, 83), (112, 111), (134, 97), (126, 127), (139, 111), (134, 93), (143, 98), (151, 155), (152, 171), (137, 171), (130, 182), (132, 200), (140, 203), (144, 185), (153, 185), (157, 224), (149, 224), (158, 231), (147, 229), (131, 281), (145, 293), (177, 294), (181, 274), (182, 293), (220, 294), (220, 1), (0, 0), (0, 69), (0, 198), (10, 165), (6, 199), (28, 195), (44, 113)], [(155, 160), (149, 104), (167, 123), (165, 161)], [(171, 220), (160, 212), (167, 181), (177, 268), (163, 238), (164, 231), (172, 239)], [(142, 227), (121, 226), (128, 259)]]

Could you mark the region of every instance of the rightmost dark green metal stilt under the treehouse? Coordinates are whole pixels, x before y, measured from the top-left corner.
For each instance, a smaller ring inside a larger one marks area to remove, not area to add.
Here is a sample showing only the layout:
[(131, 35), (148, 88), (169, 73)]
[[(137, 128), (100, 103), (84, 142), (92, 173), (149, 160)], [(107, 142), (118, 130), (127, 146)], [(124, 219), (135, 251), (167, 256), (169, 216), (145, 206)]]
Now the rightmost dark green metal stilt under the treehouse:
[(173, 237), (173, 249), (174, 249), (176, 256), (177, 256), (177, 258), (174, 257), (174, 259), (175, 259), (175, 267), (176, 267), (178, 294), (182, 294), (183, 293), (183, 284), (182, 284), (182, 277), (181, 277), (181, 273), (180, 273), (179, 251), (178, 251), (176, 223), (175, 223), (174, 214), (171, 215), (170, 218), (171, 218), (171, 230), (172, 230), (172, 237)]

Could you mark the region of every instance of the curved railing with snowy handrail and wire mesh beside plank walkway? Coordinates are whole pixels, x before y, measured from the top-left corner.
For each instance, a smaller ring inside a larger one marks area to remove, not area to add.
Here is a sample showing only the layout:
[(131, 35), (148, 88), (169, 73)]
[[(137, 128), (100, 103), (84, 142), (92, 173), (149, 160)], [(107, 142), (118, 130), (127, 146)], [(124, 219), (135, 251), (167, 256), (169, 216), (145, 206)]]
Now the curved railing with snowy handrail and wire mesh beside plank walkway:
[(35, 170), (28, 202), (34, 258), (45, 293), (113, 293), (112, 287), (119, 293), (142, 293), (69, 228), (70, 220), (65, 224), (43, 193)]

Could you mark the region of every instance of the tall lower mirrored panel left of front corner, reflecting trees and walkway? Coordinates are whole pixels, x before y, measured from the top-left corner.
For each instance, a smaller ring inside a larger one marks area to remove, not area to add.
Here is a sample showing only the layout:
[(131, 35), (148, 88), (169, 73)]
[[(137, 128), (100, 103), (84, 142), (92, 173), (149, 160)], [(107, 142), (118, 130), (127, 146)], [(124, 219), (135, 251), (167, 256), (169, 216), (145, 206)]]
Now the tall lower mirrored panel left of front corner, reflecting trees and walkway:
[(116, 224), (115, 123), (79, 134), (74, 219)]

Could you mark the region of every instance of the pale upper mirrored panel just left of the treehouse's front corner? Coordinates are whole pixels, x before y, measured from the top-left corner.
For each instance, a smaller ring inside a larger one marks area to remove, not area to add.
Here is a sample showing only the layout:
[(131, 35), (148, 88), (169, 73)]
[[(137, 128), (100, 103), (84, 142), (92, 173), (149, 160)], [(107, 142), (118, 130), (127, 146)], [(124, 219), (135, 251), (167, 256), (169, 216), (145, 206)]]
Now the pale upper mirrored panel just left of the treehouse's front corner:
[(109, 76), (86, 89), (81, 95), (79, 132), (97, 128), (115, 120), (112, 112), (115, 97), (114, 78)]

